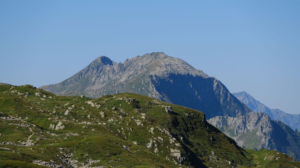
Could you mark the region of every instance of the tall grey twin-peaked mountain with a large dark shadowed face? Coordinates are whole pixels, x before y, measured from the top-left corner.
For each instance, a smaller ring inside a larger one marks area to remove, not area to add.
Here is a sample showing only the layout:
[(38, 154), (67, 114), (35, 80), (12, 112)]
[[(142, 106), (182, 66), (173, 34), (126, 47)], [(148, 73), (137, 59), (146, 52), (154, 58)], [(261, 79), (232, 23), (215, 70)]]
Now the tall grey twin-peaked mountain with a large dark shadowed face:
[(251, 111), (219, 80), (163, 52), (136, 56), (124, 63), (101, 56), (61, 83), (40, 88), (58, 95), (91, 98), (124, 92), (143, 94), (197, 109), (207, 118)]

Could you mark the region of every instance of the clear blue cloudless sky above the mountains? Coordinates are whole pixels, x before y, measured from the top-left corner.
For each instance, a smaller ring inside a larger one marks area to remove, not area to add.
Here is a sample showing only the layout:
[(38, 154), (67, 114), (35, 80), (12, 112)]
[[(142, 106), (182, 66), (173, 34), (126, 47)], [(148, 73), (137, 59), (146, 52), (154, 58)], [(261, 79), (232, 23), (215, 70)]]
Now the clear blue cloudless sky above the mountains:
[(98, 56), (162, 51), (300, 113), (300, 1), (0, 1), (0, 82), (59, 83)]

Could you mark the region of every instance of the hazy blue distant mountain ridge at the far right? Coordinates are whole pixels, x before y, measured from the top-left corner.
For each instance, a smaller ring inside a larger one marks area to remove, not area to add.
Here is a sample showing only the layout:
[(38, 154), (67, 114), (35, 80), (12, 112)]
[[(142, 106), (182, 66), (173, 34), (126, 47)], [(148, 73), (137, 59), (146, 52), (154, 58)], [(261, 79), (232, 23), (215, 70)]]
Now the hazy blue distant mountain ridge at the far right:
[(271, 117), (271, 119), (282, 121), (294, 130), (300, 130), (300, 114), (288, 114), (279, 109), (270, 109), (269, 107), (260, 103), (258, 100), (255, 100), (245, 91), (233, 93), (233, 95), (238, 98), (238, 100), (246, 104), (254, 112), (265, 112)]

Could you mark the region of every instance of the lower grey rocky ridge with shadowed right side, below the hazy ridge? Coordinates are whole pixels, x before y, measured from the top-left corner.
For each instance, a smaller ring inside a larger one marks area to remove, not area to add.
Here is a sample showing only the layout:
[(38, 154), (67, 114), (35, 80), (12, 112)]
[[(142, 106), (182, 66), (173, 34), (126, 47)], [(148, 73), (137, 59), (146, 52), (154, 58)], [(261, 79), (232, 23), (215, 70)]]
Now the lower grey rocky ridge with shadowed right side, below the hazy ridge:
[(240, 117), (217, 116), (210, 124), (233, 138), (239, 146), (249, 149), (271, 149), (300, 160), (300, 132), (278, 120), (271, 120), (263, 112)]

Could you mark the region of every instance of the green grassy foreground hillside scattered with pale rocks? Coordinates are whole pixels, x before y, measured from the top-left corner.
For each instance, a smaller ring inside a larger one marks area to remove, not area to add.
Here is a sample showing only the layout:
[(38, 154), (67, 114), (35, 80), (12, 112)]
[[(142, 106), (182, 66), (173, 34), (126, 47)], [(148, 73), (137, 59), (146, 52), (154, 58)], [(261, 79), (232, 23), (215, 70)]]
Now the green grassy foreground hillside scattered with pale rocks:
[(202, 112), (140, 94), (1, 85), (0, 126), (4, 167), (300, 167), (277, 151), (242, 149)]

